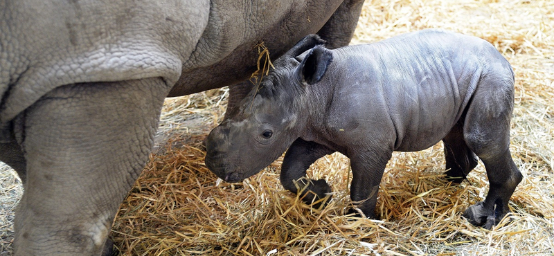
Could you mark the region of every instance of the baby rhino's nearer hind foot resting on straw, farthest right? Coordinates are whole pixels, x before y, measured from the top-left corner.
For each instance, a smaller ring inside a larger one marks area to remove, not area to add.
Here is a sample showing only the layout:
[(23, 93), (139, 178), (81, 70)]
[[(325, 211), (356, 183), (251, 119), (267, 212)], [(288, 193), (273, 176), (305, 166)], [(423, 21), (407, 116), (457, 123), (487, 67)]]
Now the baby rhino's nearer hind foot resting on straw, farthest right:
[(510, 213), (510, 210), (503, 209), (501, 204), (494, 203), (490, 207), (485, 207), (485, 203), (481, 201), (467, 208), (462, 216), (474, 226), (491, 230), (508, 213)]

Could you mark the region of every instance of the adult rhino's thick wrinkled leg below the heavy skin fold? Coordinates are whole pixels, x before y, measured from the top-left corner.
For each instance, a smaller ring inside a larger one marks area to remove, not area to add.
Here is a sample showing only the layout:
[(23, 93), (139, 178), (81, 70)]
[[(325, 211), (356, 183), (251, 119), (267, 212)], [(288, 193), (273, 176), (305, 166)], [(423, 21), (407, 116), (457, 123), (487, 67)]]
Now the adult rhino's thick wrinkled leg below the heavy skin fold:
[(21, 113), (27, 160), (15, 255), (100, 255), (152, 148), (160, 78), (62, 86)]

